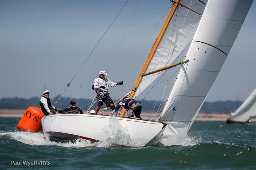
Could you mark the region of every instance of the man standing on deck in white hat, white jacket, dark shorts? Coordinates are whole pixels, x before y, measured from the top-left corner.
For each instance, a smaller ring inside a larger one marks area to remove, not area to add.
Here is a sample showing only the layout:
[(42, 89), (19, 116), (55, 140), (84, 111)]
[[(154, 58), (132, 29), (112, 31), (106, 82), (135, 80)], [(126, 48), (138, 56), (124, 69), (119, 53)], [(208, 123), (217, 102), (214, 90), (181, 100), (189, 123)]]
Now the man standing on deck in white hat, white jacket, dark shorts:
[(113, 100), (109, 96), (108, 87), (116, 87), (119, 84), (123, 84), (123, 81), (115, 83), (105, 78), (107, 73), (103, 70), (100, 71), (98, 74), (99, 78), (95, 79), (92, 84), (92, 89), (96, 91), (97, 99), (99, 102), (95, 110), (95, 115), (97, 115), (100, 107), (103, 105), (103, 102), (107, 105), (107, 107), (110, 107), (112, 110), (116, 108)]

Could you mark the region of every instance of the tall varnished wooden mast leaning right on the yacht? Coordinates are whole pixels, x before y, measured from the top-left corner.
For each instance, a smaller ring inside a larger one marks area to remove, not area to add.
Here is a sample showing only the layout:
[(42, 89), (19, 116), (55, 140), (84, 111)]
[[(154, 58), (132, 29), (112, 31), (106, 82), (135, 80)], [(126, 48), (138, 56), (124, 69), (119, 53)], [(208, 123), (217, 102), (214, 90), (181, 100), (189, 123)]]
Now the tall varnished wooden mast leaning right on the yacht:
[[(133, 98), (133, 96), (135, 95), (135, 92), (136, 92), (137, 88), (139, 87), (140, 82), (141, 82), (141, 80), (143, 78), (143, 74), (147, 71), (148, 65), (150, 64), (153, 56), (155, 55), (156, 49), (157, 49), (158, 45), (160, 44), (160, 42), (161, 42), (161, 40), (162, 40), (162, 38), (164, 36), (164, 33), (165, 33), (165, 31), (166, 31), (166, 29), (167, 29), (167, 27), (168, 27), (168, 25), (169, 25), (169, 23), (170, 23), (170, 21), (171, 21), (171, 19), (173, 17), (175, 11), (177, 10), (179, 4), (180, 4), (180, 0), (177, 0), (176, 3), (173, 5), (172, 10), (170, 11), (169, 16), (167, 17), (167, 19), (166, 19), (166, 21), (164, 23), (164, 26), (163, 26), (161, 32), (159, 33), (154, 46), (152, 47), (152, 49), (151, 49), (151, 51), (149, 53), (148, 59), (146, 60), (144, 66), (142, 67), (142, 69), (140, 71), (140, 74), (139, 74), (139, 76), (138, 76), (138, 78), (137, 78), (137, 80), (136, 80), (136, 82), (135, 82), (135, 84), (134, 84), (134, 86), (132, 88), (131, 93), (127, 96), (128, 98)], [(126, 111), (126, 109), (123, 108), (123, 110), (120, 113), (120, 117), (124, 116), (125, 111)]]

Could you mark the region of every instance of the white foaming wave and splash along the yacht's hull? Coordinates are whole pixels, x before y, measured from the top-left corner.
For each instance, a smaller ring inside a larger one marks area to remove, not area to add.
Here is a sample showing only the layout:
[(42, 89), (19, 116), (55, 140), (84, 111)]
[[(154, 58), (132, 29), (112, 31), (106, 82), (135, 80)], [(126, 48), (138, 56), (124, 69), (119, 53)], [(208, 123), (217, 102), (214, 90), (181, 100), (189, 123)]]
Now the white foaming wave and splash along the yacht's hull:
[[(86, 139), (77, 139), (75, 142), (51, 142), (47, 141), (42, 132), (39, 133), (30, 133), (23, 131), (9, 131), (4, 132), (0, 131), (0, 135), (10, 136), (11, 139), (15, 139), (19, 142), (22, 142), (27, 145), (56, 145), (61, 147), (74, 147), (74, 148), (94, 148), (94, 147), (102, 147), (102, 148), (111, 148), (111, 147), (120, 147), (121, 146), (129, 146), (129, 147), (142, 147), (143, 140), (140, 138), (132, 138), (128, 129), (124, 128), (118, 121), (118, 119), (113, 116), (110, 121), (108, 121), (102, 129), (102, 136), (104, 138), (103, 141), (100, 142), (91, 142)], [(164, 144), (164, 140), (170, 141), (173, 140), (171, 136), (165, 136), (164, 138), (160, 138), (156, 145), (159, 146), (159, 143)], [(201, 139), (195, 137), (193, 135), (187, 136), (185, 139), (174, 141), (173, 145), (182, 145), (182, 146), (193, 146), (201, 142)], [(163, 147), (165, 145), (162, 145)]]

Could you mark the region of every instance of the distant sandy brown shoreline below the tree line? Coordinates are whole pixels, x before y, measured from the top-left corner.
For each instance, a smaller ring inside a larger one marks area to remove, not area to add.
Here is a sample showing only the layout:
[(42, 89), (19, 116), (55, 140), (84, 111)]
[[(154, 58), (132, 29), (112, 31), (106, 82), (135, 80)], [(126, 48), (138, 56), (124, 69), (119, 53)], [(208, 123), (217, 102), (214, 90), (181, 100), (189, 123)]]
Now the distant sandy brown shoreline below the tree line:
[[(83, 110), (86, 112), (85, 110)], [(24, 109), (0, 109), (0, 117), (22, 117), (26, 110)], [(142, 112), (141, 117), (150, 120), (155, 113)], [(156, 114), (155, 116), (158, 116)], [(230, 115), (228, 113), (198, 113), (195, 120), (198, 121), (226, 121)], [(256, 121), (255, 118), (252, 121)]]

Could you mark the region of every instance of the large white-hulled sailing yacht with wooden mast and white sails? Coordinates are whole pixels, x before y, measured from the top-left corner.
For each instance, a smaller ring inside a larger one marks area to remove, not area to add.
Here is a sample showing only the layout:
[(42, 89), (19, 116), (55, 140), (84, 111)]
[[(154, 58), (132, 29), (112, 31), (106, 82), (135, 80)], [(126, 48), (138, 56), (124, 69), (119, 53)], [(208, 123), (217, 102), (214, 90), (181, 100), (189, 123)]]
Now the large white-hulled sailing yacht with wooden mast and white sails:
[[(119, 145), (149, 145), (164, 136), (182, 141), (214, 83), (250, 9), (252, 0), (172, 0), (173, 6), (128, 98), (136, 98), (171, 67), (180, 66), (157, 121), (87, 114), (58, 114), (42, 118), (47, 140), (83, 138), (112, 140)], [(188, 46), (184, 61), (175, 60)], [(139, 89), (139, 90), (138, 90)], [(115, 130), (109, 127), (118, 126)], [(113, 132), (113, 133), (112, 133)], [(164, 145), (173, 145), (166, 141)]]

